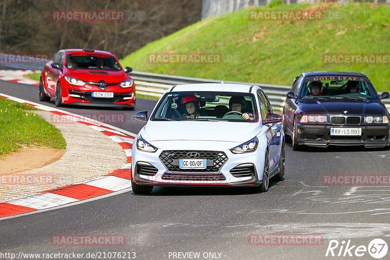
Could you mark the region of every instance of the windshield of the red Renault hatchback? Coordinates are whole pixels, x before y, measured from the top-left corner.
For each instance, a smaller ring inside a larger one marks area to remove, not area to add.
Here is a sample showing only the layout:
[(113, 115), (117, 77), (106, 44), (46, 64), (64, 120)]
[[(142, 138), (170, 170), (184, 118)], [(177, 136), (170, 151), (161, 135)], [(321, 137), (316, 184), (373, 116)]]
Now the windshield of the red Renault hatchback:
[(68, 54), (66, 67), (69, 69), (120, 71), (117, 60), (108, 55), (97, 54)]

